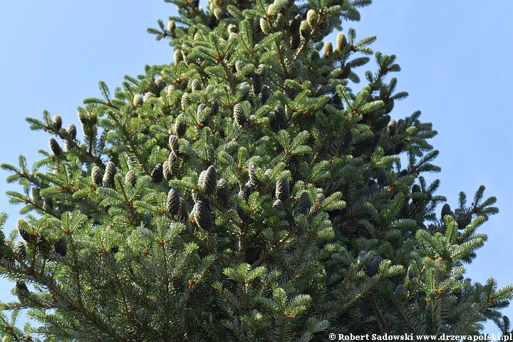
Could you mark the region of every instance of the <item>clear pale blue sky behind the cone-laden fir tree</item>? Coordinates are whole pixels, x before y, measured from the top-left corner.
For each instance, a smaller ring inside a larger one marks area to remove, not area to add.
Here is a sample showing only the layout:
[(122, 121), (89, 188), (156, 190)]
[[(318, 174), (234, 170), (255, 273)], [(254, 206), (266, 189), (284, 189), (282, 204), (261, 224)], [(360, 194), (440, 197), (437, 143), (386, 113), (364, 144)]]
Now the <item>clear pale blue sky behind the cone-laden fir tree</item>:
[[(202, 1), (203, 2), (203, 1)], [(98, 81), (111, 92), (124, 75), (144, 73), (145, 64), (172, 62), (167, 41), (146, 33), (167, 22), (175, 6), (162, 0), (4, 1), (0, 11), (0, 162), (17, 165), (18, 156), (32, 165), (48, 148), (48, 134), (31, 132), (26, 117), (42, 118), (43, 110), (60, 114), (63, 126), (75, 123), (83, 98), (101, 97)], [(410, 96), (395, 103), (398, 120), (421, 110), (438, 135), (430, 143), (440, 150), (435, 165), (442, 172), (437, 195), (452, 209), (457, 195), (468, 204), (480, 185), (484, 198), (497, 197), (499, 214), (480, 228), (489, 237), (467, 265), (467, 276), (484, 283), (493, 276), (499, 287), (513, 283), (511, 262), (513, 185), (513, 2), (378, 0), (361, 9), (357, 38), (375, 35), (371, 48), (395, 54), (402, 67), (397, 91)], [(334, 34), (331, 41), (335, 41)], [(375, 71), (375, 63), (361, 67)], [(362, 74), (360, 72), (360, 74)], [(353, 86), (357, 90), (361, 85)], [(21, 190), (7, 184), (0, 170), (0, 194)], [(16, 225), (21, 207), (0, 195), (0, 212), (8, 212), (4, 232)], [(437, 216), (440, 208), (437, 209)], [(14, 299), (12, 283), (0, 279), (0, 300)], [(513, 318), (513, 308), (504, 310)], [(497, 333), (492, 323), (486, 333)]]

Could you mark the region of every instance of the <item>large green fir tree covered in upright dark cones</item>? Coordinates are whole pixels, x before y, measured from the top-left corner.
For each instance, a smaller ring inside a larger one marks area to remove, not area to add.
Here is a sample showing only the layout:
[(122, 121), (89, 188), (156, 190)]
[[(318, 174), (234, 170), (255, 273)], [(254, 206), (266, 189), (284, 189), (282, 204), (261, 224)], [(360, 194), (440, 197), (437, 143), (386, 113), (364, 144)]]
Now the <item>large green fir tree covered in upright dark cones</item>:
[[(370, 0), (170, 2), (180, 15), (148, 31), (170, 38), (172, 63), (113, 95), (100, 82), (103, 98), (78, 108), (83, 140), (58, 115), (27, 118), (53, 135), (50, 151), (32, 170), (23, 156), (1, 165), (25, 214), (0, 234), (19, 299), (1, 304), (6, 341), (511, 329), (499, 309), (513, 286), (464, 276), (495, 198), (480, 187), (467, 207), (461, 192), (437, 217), (445, 197), (422, 175), (440, 171), (437, 133), (420, 112), (392, 119), (408, 95), (385, 82), (395, 56), (353, 28), (326, 39)], [(22, 331), (23, 308), (36, 325)]]

